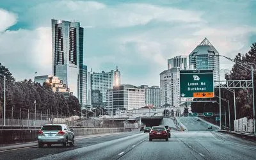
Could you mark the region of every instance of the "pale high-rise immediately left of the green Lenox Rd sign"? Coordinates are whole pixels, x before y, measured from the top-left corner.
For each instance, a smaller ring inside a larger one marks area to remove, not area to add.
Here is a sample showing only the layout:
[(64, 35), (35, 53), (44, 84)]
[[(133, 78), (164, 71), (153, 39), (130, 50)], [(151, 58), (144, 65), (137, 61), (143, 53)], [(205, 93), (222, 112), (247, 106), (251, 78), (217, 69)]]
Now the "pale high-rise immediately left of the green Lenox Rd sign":
[(161, 106), (180, 106), (180, 68), (170, 68), (160, 74)]

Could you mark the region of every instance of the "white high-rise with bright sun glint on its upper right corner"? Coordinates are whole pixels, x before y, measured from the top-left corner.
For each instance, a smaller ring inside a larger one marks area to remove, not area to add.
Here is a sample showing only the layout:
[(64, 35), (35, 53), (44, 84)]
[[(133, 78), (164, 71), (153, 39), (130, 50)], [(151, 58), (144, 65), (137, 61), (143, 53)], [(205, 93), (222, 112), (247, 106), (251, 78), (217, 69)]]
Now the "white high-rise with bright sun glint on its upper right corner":
[[(98, 106), (106, 106), (107, 90), (113, 89), (113, 86), (119, 86), (120, 82), (120, 72), (117, 67), (116, 70), (111, 70), (110, 72), (102, 71), (101, 73), (96, 73), (92, 72), (92, 70), (88, 72), (88, 104), (95, 106), (95, 103), (97, 103)], [(99, 96), (92, 97), (93, 95)]]

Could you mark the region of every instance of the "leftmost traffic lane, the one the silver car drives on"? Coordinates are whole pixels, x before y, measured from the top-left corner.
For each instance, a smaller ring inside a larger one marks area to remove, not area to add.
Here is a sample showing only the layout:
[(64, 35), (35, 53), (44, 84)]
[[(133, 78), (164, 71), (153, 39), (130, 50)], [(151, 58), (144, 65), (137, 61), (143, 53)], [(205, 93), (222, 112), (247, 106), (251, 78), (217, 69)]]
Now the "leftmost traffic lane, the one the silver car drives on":
[(68, 150), (75, 150), (76, 148), (86, 147), (90, 145), (95, 145), (97, 143), (104, 143), (106, 141), (116, 140), (119, 138), (124, 138), (127, 136), (132, 136), (138, 134), (139, 132), (124, 132), (114, 135), (100, 136), (95, 138), (84, 138), (76, 140), (74, 147), (62, 147), (61, 145), (52, 145), (52, 147), (38, 148), (34, 147), (25, 147), (25, 148), (15, 148), (11, 150), (0, 151), (0, 159), (36, 159), (38, 157), (47, 156), (49, 154), (58, 154), (61, 152), (66, 152)]

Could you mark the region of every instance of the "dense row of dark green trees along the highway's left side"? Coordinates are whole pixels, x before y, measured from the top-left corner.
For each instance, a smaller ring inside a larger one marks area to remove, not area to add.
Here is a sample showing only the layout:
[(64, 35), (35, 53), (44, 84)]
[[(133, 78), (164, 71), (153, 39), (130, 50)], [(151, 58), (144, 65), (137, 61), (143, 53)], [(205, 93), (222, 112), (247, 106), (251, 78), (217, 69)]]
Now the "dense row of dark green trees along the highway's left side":
[[(51, 84), (44, 83), (41, 86), (39, 83), (33, 83), (31, 79), (21, 82), (15, 82), (12, 74), (0, 63), (0, 74), (6, 76), (6, 118), (20, 117), (20, 108), (22, 116), (26, 116), (28, 109), (30, 112), (48, 113), (52, 115), (74, 115), (74, 110), (81, 110), (79, 100), (70, 95), (65, 98), (61, 93), (54, 93), (51, 90)], [(3, 76), (0, 76), (0, 108), (3, 106)], [(1, 111), (1, 110), (0, 110)], [(2, 114), (0, 114), (0, 117)]]

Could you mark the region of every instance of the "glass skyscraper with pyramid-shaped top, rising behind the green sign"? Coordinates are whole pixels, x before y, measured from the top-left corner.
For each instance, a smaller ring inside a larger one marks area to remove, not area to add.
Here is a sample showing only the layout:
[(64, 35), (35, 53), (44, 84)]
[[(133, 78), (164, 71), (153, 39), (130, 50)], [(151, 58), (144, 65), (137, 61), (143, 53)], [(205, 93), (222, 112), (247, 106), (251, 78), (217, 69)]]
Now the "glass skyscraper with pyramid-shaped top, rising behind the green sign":
[[(216, 56), (217, 55), (217, 56)], [(220, 79), (220, 58), (219, 52), (205, 38), (197, 47), (189, 54), (189, 67), (191, 69), (203, 70), (212, 69), (214, 81)]]

